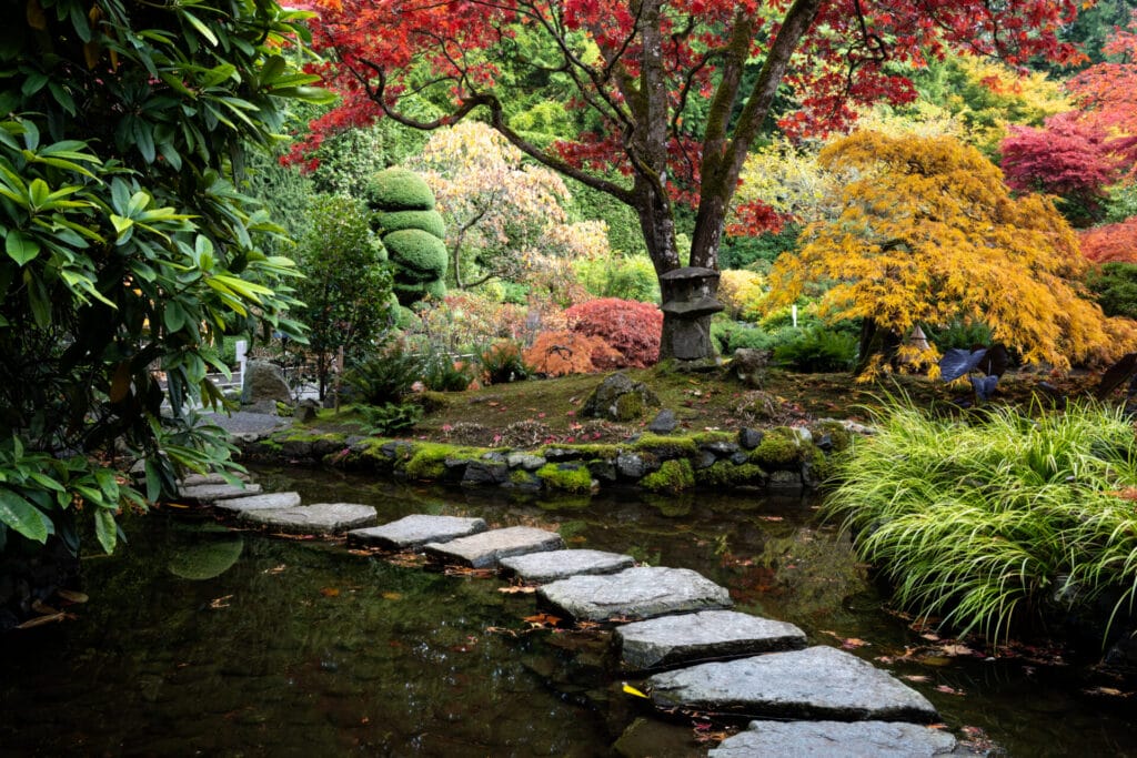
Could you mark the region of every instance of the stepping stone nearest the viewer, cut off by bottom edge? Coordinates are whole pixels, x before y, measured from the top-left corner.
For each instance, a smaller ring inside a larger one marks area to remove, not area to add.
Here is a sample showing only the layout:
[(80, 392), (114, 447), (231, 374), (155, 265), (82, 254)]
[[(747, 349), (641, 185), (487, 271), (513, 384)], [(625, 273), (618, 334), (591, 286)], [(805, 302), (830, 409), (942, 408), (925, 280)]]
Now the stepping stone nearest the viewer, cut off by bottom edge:
[(707, 758), (931, 758), (955, 751), (947, 732), (898, 722), (750, 722)]

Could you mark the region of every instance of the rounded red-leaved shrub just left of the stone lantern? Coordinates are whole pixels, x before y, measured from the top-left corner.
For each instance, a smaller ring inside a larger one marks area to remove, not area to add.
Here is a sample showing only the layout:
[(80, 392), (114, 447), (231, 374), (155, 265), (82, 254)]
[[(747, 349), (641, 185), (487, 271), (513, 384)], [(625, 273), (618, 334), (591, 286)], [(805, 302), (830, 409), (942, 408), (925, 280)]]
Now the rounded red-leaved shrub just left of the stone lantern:
[(620, 353), (615, 359), (594, 353), (592, 363), (600, 370), (646, 368), (659, 360), (663, 311), (657, 306), (600, 298), (568, 308), (565, 316), (570, 330), (598, 336)]

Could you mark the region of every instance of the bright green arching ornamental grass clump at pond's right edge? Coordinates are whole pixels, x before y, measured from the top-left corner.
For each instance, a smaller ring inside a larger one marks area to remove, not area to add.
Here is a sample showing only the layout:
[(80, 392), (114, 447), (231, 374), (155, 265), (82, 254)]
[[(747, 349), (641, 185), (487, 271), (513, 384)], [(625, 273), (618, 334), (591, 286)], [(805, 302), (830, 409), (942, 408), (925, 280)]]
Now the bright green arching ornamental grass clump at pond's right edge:
[[(1104, 638), (1137, 591), (1137, 444), (1117, 409), (935, 418), (893, 402), (825, 505), (895, 601), (993, 643), (1064, 618)], [(1104, 609), (1104, 610), (1103, 610)]]

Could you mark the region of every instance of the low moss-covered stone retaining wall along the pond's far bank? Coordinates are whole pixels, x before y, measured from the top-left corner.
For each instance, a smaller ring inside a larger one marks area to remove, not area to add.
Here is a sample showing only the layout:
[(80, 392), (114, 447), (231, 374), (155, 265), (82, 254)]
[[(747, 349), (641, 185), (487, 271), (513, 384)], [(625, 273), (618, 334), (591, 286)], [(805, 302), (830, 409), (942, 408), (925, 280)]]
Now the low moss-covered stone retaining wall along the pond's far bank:
[(649, 492), (696, 488), (802, 490), (818, 486), (855, 424), (706, 432), (690, 436), (642, 434), (611, 444), (550, 444), (533, 450), (472, 448), (283, 430), (234, 435), (246, 459), (289, 460), (364, 470), (416, 482), (457, 483), (568, 493), (608, 486)]

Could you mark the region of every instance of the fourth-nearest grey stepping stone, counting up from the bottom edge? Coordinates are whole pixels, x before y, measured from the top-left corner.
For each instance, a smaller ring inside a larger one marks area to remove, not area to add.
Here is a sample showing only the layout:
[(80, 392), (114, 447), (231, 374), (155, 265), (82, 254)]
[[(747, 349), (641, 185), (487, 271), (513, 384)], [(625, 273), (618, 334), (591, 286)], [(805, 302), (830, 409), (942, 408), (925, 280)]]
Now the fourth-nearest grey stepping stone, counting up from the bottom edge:
[(541, 602), (578, 620), (653, 618), (729, 608), (730, 594), (689, 568), (640, 566), (604, 576), (571, 576), (537, 591)]

